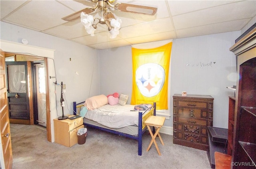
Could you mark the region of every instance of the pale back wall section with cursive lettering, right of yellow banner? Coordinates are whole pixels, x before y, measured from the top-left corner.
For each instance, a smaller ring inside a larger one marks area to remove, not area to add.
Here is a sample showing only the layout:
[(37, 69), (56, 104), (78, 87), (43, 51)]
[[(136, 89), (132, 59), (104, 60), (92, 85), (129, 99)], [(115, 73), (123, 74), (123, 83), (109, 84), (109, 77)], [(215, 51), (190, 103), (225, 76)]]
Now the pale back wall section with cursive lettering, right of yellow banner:
[(226, 86), (236, 85), (236, 57), (229, 48), (239, 36), (240, 31), (234, 31), (173, 41), (171, 95), (181, 91), (211, 95), (215, 127), (228, 128), (228, 96), (234, 92)]

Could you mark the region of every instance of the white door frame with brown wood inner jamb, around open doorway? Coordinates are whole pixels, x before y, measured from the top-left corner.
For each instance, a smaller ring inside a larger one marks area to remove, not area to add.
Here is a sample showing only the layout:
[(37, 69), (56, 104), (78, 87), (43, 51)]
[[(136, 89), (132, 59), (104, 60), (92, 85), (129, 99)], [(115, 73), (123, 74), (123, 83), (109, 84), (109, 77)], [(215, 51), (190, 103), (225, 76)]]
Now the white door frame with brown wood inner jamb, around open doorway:
[[(54, 126), (53, 123), (51, 123), (51, 121), (53, 121), (51, 119), (51, 116), (53, 116), (51, 114), (50, 111), (50, 84), (49, 84), (49, 75), (48, 72), (52, 72), (54, 67), (53, 67), (53, 63), (51, 63), (51, 67), (49, 67), (50, 65), (49, 63), (49, 59), (53, 59), (54, 58), (54, 51), (53, 49), (46, 49), (46, 48), (42, 48), (42, 47), (37, 47), (37, 46), (32, 46), (32, 45), (25, 45), (22, 43), (16, 43), (16, 42), (12, 42), (12, 41), (6, 41), (6, 40), (2, 40), (0, 39), (0, 43), (1, 43), (1, 49), (2, 51), (6, 52), (6, 53), (22, 53), (24, 55), (30, 55), (30, 56), (36, 56), (36, 57), (43, 57), (44, 58), (44, 65), (46, 67), (45, 69), (45, 76), (46, 78), (46, 131), (47, 131), (47, 140), (50, 142), (54, 141), (54, 135), (52, 135), (52, 132), (54, 132)], [(30, 54), (32, 53), (32, 54)]]

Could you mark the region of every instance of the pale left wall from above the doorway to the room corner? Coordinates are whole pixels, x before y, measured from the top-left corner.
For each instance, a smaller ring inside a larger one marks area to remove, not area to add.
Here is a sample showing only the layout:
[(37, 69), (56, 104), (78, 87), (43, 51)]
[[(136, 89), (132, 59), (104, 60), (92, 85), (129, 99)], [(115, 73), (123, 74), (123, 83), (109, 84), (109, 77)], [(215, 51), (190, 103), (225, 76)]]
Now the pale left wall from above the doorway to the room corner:
[[(65, 115), (73, 114), (73, 101), (82, 102), (89, 96), (100, 94), (98, 50), (5, 22), (1, 22), (0, 39), (16, 43), (21, 43), (22, 39), (27, 39), (29, 45), (55, 50), (54, 63), (52, 59), (49, 59), (49, 76), (56, 77), (59, 84), (61, 81), (66, 84), (64, 90)], [(24, 54), (26, 55), (26, 53)], [(54, 65), (56, 69), (54, 69)], [(56, 75), (54, 70), (56, 70)], [(54, 141), (53, 119), (62, 115), (60, 106), (61, 88), (53, 83), (56, 79), (49, 79), (52, 141)], [(57, 92), (56, 96), (55, 91)], [(58, 116), (56, 110), (58, 110)]]

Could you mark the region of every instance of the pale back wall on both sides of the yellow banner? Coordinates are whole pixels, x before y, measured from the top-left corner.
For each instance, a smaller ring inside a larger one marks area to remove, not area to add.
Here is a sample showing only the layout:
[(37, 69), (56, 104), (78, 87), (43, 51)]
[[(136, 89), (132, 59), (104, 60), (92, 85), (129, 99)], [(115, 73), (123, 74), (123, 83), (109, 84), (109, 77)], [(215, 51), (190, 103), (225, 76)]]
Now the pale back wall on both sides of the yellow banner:
[[(173, 39), (171, 118), (165, 121), (164, 126), (173, 126), (173, 94), (187, 91), (188, 94), (214, 97), (213, 126), (228, 128), (228, 96), (234, 96), (234, 92), (226, 86), (236, 85), (236, 57), (229, 48), (239, 36), (240, 31), (234, 31)], [(200, 63), (211, 64), (201, 68)], [(113, 92), (132, 94), (131, 46), (100, 50), (100, 93)]]

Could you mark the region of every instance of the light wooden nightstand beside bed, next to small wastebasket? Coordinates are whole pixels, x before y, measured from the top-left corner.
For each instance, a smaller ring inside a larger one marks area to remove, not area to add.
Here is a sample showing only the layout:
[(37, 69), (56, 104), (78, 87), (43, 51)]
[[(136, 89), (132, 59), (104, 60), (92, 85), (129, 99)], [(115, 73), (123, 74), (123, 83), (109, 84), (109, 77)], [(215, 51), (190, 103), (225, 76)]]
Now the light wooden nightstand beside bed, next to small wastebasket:
[[(69, 117), (70, 116), (73, 115), (69, 115)], [(58, 120), (58, 118), (54, 119), (55, 142), (67, 147), (72, 147), (78, 141), (77, 132), (80, 128), (84, 128), (82, 117), (74, 120)]]

